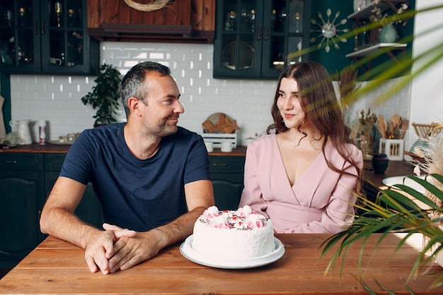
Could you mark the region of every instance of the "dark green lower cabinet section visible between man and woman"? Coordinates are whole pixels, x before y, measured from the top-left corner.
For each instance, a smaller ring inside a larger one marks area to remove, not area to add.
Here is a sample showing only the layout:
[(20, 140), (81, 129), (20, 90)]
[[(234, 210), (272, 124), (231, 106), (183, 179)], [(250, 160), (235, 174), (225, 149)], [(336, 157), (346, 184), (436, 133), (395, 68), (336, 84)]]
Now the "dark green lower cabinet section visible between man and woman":
[(243, 191), (245, 156), (209, 156), (215, 205), (220, 210), (238, 208)]

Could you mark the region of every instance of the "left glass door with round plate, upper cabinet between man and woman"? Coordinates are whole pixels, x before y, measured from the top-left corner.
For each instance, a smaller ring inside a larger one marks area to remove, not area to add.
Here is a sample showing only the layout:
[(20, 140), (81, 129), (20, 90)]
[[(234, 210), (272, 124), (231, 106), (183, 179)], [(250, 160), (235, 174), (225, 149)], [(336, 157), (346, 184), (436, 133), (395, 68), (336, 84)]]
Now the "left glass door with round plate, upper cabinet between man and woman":
[(217, 76), (260, 76), (261, 7), (255, 0), (217, 2)]

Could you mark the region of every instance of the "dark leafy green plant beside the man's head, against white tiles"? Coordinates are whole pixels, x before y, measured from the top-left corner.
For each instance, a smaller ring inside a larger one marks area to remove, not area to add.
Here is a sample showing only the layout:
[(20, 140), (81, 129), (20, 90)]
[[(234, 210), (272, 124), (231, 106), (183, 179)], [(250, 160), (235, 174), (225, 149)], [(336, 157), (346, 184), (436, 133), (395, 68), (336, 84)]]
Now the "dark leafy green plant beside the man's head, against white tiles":
[(96, 115), (93, 115), (96, 119), (94, 127), (117, 121), (113, 115), (117, 113), (120, 100), (120, 82), (122, 81), (120, 76), (120, 71), (112, 64), (103, 64), (94, 80), (96, 85), (93, 86), (92, 91), (81, 98), (84, 105), (91, 105), (94, 110), (98, 109)]

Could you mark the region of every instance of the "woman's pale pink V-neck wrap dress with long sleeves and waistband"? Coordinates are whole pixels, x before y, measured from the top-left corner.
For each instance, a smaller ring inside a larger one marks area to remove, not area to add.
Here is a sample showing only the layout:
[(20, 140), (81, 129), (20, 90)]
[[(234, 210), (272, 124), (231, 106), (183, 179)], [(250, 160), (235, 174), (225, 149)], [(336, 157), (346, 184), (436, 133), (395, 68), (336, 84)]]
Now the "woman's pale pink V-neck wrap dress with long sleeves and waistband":
[[(362, 152), (353, 145), (347, 149), (362, 169)], [(325, 152), (333, 166), (357, 175), (332, 144)], [(269, 217), (276, 233), (337, 233), (354, 219), (356, 184), (356, 177), (330, 170), (320, 153), (291, 186), (277, 138), (270, 134), (248, 145), (239, 207), (250, 205)]]

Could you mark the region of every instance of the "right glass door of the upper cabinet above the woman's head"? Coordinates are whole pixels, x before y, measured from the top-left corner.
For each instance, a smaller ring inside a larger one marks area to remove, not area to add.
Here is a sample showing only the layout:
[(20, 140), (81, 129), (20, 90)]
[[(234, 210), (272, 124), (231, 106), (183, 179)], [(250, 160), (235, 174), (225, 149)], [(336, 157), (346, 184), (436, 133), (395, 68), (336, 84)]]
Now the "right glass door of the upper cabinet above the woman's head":
[[(301, 62), (307, 55), (300, 50), (309, 45), (310, 5), (304, 0), (270, 1), (263, 17), (263, 77), (276, 77), (289, 64)], [(306, 20), (304, 19), (306, 17)], [(267, 30), (269, 28), (269, 30)], [(267, 32), (269, 32), (267, 34)]]

